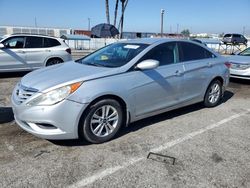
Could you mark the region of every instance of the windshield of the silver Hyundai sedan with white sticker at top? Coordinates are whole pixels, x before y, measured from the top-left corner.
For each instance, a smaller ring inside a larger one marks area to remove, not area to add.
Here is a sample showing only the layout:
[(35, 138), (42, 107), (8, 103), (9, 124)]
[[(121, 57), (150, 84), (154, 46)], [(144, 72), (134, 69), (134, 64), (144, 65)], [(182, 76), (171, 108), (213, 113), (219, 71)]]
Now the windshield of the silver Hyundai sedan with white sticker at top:
[(147, 44), (115, 43), (106, 46), (82, 59), (78, 63), (102, 67), (121, 67), (144, 50)]

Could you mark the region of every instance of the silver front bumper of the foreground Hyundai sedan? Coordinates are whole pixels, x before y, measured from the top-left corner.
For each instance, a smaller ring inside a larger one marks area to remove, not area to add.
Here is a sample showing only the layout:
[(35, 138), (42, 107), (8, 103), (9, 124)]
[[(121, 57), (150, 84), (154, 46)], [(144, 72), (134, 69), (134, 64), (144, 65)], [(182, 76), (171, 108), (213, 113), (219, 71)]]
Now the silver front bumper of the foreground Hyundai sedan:
[(12, 108), (17, 124), (25, 131), (44, 139), (78, 138), (78, 124), (87, 104), (63, 100), (51, 106), (17, 104), (12, 95)]

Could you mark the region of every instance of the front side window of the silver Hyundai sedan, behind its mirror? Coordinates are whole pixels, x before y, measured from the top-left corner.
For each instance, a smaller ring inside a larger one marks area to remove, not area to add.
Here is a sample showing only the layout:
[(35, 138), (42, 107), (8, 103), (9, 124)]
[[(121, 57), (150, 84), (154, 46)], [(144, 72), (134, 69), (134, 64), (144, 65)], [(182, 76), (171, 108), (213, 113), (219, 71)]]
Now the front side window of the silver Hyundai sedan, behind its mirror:
[(178, 62), (178, 48), (175, 42), (160, 44), (145, 54), (140, 61), (154, 59), (160, 62), (160, 66)]

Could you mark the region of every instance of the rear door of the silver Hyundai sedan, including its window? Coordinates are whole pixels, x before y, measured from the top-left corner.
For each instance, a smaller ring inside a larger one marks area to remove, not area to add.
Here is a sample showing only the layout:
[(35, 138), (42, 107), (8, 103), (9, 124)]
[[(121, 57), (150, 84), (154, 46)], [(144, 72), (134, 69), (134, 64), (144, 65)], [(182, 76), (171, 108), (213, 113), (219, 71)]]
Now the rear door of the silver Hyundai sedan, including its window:
[(190, 42), (178, 42), (180, 61), (184, 64), (182, 101), (198, 99), (207, 88), (216, 56)]

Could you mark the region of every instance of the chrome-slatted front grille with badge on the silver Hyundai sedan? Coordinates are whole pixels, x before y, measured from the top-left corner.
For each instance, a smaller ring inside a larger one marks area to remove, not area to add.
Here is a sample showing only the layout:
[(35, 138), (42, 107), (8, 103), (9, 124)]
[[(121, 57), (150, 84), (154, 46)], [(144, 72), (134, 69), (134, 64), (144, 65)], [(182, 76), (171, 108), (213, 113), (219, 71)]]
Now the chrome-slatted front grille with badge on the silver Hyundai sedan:
[(18, 86), (16, 87), (16, 90), (14, 91), (15, 101), (18, 104), (22, 104), (24, 101), (30, 98), (37, 91), (38, 91), (37, 89), (25, 87), (21, 84), (18, 84)]

